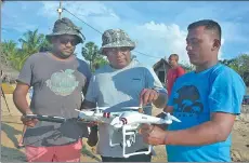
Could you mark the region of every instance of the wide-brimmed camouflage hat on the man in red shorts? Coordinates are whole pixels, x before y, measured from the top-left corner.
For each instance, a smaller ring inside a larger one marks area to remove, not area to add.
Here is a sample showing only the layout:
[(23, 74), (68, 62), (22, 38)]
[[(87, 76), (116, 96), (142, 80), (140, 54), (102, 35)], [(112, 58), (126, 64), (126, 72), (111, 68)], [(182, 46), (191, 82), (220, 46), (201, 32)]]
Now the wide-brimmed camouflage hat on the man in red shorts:
[(81, 28), (77, 27), (69, 18), (63, 17), (54, 23), (53, 32), (51, 35), (47, 35), (45, 38), (50, 41), (52, 37), (74, 35), (79, 38), (80, 43), (83, 43), (86, 38), (80, 30)]

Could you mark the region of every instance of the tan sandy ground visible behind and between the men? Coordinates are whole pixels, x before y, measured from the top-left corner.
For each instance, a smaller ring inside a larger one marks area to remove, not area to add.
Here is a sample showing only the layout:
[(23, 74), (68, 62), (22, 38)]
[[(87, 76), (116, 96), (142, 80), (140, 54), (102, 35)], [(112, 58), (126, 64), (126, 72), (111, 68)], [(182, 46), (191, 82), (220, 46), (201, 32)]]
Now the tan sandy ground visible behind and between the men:
[[(24, 149), (16, 147), (22, 134), (23, 125), (19, 121), (19, 112), (15, 108), (11, 94), (6, 94), (6, 101), (10, 108), (1, 99), (1, 162), (25, 162)], [(159, 110), (155, 110), (156, 114)], [(86, 139), (83, 139), (86, 142)], [(155, 147), (156, 157), (153, 162), (166, 162), (167, 155), (165, 146)], [(232, 157), (234, 161), (249, 161), (249, 111), (238, 118), (233, 130)], [(95, 148), (87, 144), (82, 149), (81, 162), (100, 162), (100, 155), (95, 154)]]

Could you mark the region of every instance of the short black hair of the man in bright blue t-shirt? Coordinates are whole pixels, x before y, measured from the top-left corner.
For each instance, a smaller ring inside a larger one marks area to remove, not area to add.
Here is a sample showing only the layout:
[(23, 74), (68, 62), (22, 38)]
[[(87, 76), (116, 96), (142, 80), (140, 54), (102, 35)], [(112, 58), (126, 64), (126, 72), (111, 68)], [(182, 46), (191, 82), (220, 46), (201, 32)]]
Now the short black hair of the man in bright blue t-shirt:
[(201, 21), (197, 21), (192, 23), (191, 25), (188, 25), (187, 30), (194, 29), (196, 27), (200, 27), (200, 26), (205, 26), (205, 29), (207, 30), (213, 30), (215, 31), (215, 35), (218, 36), (219, 40), (221, 41), (221, 26), (212, 21), (212, 19), (201, 19)]

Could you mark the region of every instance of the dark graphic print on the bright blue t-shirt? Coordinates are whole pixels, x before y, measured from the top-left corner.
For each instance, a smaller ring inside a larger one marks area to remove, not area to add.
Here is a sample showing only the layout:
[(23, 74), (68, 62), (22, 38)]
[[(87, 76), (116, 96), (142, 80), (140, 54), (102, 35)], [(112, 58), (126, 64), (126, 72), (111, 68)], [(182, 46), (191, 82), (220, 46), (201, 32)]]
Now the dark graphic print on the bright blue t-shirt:
[(173, 103), (176, 105), (174, 112), (179, 117), (194, 117), (204, 111), (200, 94), (196, 86), (185, 85), (176, 91)]

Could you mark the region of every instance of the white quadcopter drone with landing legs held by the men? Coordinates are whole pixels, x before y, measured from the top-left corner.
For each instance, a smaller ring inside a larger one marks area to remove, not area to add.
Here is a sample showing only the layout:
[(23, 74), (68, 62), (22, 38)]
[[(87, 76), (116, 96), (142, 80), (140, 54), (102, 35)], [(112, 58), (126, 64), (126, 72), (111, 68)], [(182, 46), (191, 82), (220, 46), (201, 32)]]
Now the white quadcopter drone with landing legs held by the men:
[[(175, 117), (170, 113), (166, 113), (163, 119), (156, 118), (153, 116), (147, 116), (137, 111), (141, 107), (123, 107), (121, 108), (123, 111), (120, 112), (105, 112), (104, 108), (93, 108), (93, 110), (77, 110), (79, 111), (79, 119), (83, 119), (86, 121), (97, 121), (101, 123), (107, 123), (112, 127), (109, 127), (109, 146), (121, 146), (122, 154), (124, 158), (129, 158), (131, 155), (136, 154), (149, 154), (152, 152), (152, 146), (148, 145), (147, 151), (126, 153), (127, 147), (131, 147), (135, 144), (136, 135), (139, 134), (139, 127), (141, 124), (171, 124), (172, 121), (181, 122)], [(117, 130), (122, 130), (122, 142), (113, 144), (113, 134)], [(128, 136), (128, 138), (127, 138)]]

